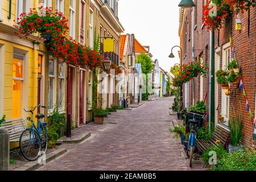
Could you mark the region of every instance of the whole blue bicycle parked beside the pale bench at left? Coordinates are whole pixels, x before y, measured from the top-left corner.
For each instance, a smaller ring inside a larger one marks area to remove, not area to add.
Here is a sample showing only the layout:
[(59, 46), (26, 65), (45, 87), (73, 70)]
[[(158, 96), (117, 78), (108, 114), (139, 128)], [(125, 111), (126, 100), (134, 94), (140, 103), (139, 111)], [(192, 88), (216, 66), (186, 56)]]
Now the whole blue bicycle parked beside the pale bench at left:
[(39, 156), (47, 151), (47, 128), (46, 123), (40, 121), (44, 118), (44, 114), (36, 114), (38, 119), (38, 128), (34, 125), (33, 114), (36, 108), (46, 106), (35, 106), (32, 110), (26, 110), (27, 113), (31, 113), (31, 117), (27, 117), (27, 121), (31, 121), (30, 127), (22, 132), (19, 138), (19, 148), (22, 156), (30, 161), (34, 161), (39, 158)]

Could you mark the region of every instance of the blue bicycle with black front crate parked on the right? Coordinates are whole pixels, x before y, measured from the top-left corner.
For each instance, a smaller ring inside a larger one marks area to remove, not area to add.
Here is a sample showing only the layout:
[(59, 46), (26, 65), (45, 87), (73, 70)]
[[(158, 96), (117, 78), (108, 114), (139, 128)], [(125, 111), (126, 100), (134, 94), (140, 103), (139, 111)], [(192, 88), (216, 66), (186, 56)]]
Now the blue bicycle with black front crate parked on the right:
[(189, 125), (191, 127), (190, 134), (188, 137), (187, 146), (185, 146), (185, 150), (187, 152), (187, 156), (189, 158), (189, 167), (192, 167), (192, 158), (195, 152), (197, 151), (196, 147), (196, 130), (199, 129), (200, 122), (196, 121), (196, 119), (189, 119)]

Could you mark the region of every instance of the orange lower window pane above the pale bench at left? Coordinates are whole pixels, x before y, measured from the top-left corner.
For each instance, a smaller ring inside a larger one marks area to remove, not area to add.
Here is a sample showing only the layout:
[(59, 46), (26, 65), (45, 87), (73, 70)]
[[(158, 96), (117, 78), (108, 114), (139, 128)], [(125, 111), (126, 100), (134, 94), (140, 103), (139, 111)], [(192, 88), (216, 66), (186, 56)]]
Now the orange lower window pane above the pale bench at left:
[(13, 118), (21, 118), (22, 81), (13, 80)]

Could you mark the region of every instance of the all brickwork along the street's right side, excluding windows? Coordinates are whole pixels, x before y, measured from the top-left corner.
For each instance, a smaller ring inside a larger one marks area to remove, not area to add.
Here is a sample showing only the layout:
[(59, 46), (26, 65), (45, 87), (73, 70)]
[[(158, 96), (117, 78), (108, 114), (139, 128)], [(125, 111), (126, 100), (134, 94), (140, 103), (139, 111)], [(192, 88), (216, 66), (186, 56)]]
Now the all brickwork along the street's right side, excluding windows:
[[(209, 64), (209, 51), (210, 51), (210, 32), (207, 28), (203, 26), (203, 1), (195, 1), (196, 7), (195, 11), (185, 10), (184, 21), (181, 27), (180, 33), (180, 45), (183, 48), (183, 63), (189, 63), (192, 61), (192, 37), (189, 39), (189, 27), (193, 31), (194, 38), (194, 48), (195, 48), (195, 60), (200, 60), (203, 58), (204, 63)], [(195, 16), (195, 22), (192, 24), (192, 14)], [(256, 10), (250, 9), (250, 16), (248, 11), (245, 13), (240, 13), (233, 15), (232, 17), (226, 19), (223, 27), (220, 31), (215, 31), (214, 44), (215, 48), (220, 49), (220, 68), (222, 68), (222, 47), (224, 44), (229, 42), (230, 36), (233, 39), (234, 51), (236, 53), (238, 65), (242, 70), (242, 79), (246, 95), (250, 104), (250, 108), (254, 113), (255, 106), (255, 86), (256, 86)], [(236, 19), (241, 19), (242, 30), (236, 31)], [(250, 20), (250, 26), (248, 24)], [(249, 28), (248, 28), (249, 27)], [(216, 60), (217, 61), (217, 60)], [(216, 63), (217, 64), (217, 63)], [(207, 98), (205, 104), (207, 109), (209, 107), (209, 76), (205, 76), (203, 80), (203, 97), (207, 93)], [(185, 86), (183, 86), (183, 91)], [(243, 118), (243, 140), (242, 143), (250, 146), (252, 139), (253, 125), (249, 119), (249, 113), (246, 111), (246, 100), (242, 96), (240, 89), (235, 89), (231, 86), (233, 91), (232, 96), (230, 96), (230, 107), (229, 115), (232, 117), (234, 113), (241, 114)], [(195, 81), (189, 82), (189, 104), (192, 104), (193, 90), (195, 90), (195, 103), (200, 100), (200, 77), (195, 78)], [(218, 103), (216, 103), (216, 108), (218, 108), (218, 114), (221, 113), (221, 87), (218, 87)], [(183, 92), (183, 97), (185, 97), (185, 91)], [(184, 99), (185, 100), (185, 99)], [(183, 100), (183, 105), (184, 105)], [(229, 118), (230, 118), (229, 117)]]

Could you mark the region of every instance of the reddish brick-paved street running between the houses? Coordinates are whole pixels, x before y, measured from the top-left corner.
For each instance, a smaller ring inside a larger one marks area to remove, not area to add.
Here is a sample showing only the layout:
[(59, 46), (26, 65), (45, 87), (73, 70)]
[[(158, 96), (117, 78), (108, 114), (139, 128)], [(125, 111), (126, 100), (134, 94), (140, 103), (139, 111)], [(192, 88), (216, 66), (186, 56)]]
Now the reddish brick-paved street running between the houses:
[(173, 98), (159, 98), (86, 125), (92, 137), (65, 144), (68, 152), (38, 170), (190, 170), (182, 147), (168, 131)]

